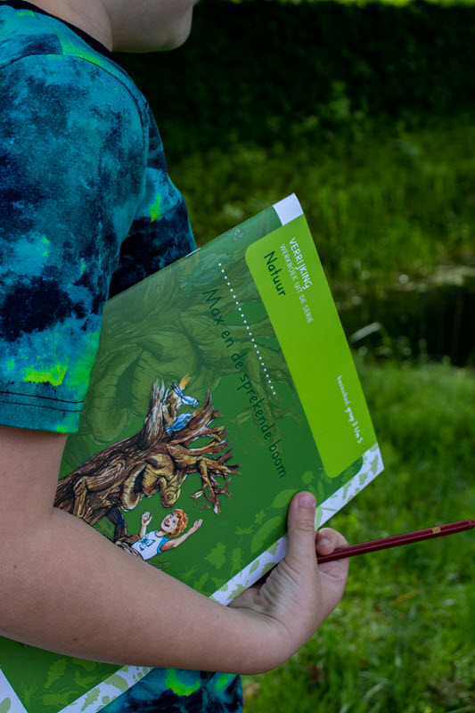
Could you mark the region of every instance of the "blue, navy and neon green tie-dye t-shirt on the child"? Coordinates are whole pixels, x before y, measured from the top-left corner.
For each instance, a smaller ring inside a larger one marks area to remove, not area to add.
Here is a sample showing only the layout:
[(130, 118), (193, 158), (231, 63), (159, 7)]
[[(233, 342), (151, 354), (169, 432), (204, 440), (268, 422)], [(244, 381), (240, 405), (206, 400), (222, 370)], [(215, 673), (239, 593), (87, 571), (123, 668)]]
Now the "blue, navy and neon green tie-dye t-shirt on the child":
[[(194, 249), (143, 95), (79, 29), (0, 2), (0, 423), (73, 432), (116, 294)], [(239, 678), (153, 669), (103, 713), (242, 709)]]

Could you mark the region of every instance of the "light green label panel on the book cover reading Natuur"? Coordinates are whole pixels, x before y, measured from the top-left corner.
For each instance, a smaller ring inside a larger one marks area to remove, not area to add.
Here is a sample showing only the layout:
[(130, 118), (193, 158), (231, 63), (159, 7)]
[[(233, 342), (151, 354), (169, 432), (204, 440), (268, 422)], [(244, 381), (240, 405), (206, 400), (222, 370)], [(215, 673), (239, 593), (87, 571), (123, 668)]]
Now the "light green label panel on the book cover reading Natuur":
[(332, 293), (305, 217), (246, 251), (328, 476), (376, 442)]

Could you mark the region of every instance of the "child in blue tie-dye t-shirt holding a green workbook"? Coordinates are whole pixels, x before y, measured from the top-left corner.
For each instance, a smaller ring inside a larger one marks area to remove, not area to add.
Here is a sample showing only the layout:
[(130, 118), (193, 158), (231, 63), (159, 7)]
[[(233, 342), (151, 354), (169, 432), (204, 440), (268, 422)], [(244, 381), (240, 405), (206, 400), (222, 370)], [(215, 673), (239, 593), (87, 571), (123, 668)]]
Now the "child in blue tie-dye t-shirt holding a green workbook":
[(347, 577), (346, 561), (317, 568), (315, 548), (345, 540), (315, 538), (306, 493), (292, 500), (283, 562), (228, 607), (53, 508), (105, 300), (193, 249), (151, 112), (111, 50), (171, 49), (191, 20), (192, 0), (0, 2), (1, 633), (159, 667), (106, 713), (240, 709), (236, 676), (194, 669), (279, 666)]

